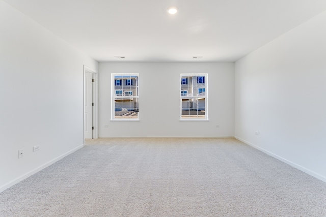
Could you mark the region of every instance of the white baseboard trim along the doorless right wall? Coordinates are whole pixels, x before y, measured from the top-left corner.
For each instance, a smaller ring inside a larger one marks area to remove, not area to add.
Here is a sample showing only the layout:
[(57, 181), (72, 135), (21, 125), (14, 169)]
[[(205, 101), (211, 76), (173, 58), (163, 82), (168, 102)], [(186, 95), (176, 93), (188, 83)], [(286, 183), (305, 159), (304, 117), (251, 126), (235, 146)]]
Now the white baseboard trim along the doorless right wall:
[(300, 166), (300, 165), (298, 165), (298, 164), (296, 164), (296, 163), (294, 163), (294, 162), (292, 162), (292, 161), (286, 160), (285, 158), (282, 158), (282, 157), (278, 156), (278, 155), (275, 154), (275, 153), (272, 153), (272, 152), (270, 152), (270, 151), (267, 151), (267, 150), (264, 149), (264, 148), (258, 147), (257, 145), (254, 145), (253, 143), (250, 143), (250, 142), (248, 142), (248, 141), (246, 141), (246, 140), (244, 140), (244, 139), (241, 139), (241, 138), (239, 138), (239, 137), (237, 137), (237, 136), (234, 136), (234, 138), (237, 139), (237, 140), (239, 140), (239, 141), (241, 141), (241, 142), (244, 142), (244, 143), (246, 143), (247, 145), (250, 145), (250, 146), (252, 146), (253, 148), (256, 148), (256, 149), (258, 149), (258, 150), (260, 150), (260, 151), (262, 151), (262, 152), (268, 154), (269, 156), (271, 156), (271, 157), (273, 157), (273, 158), (276, 158), (276, 159), (278, 159), (278, 160), (280, 160), (280, 161), (282, 161), (282, 162), (284, 162), (284, 163), (286, 163), (286, 164), (288, 164), (288, 165), (290, 165), (290, 166), (292, 166), (292, 167), (294, 167), (294, 168), (296, 168), (296, 169), (298, 169), (298, 170), (301, 170), (301, 171), (303, 171), (303, 172), (305, 172), (305, 173), (307, 173), (307, 174), (309, 174), (309, 175), (311, 175), (311, 176), (313, 176), (313, 177), (315, 177), (315, 178), (320, 179), (321, 181), (326, 182), (326, 177), (325, 177), (325, 176), (322, 176), (322, 175), (320, 175), (320, 174), (318, 174), (318, 173), (316, 173), (316, 172), (314, 172), (314, 171), (311, 171), (311, 170), (309, 170), (309, 169), (307, 169), (307, 168), (305, 168), (305, 167), (303, 167), (303, 166)]

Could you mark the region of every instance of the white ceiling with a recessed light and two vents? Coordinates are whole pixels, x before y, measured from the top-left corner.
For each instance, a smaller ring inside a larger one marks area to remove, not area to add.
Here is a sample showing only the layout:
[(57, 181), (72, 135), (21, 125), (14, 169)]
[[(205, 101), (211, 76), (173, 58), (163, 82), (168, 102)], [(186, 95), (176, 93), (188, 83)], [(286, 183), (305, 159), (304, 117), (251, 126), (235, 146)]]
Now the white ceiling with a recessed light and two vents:
[(326, 0), (5, 2), (98, 61), (235, 61), (326, 10)]

